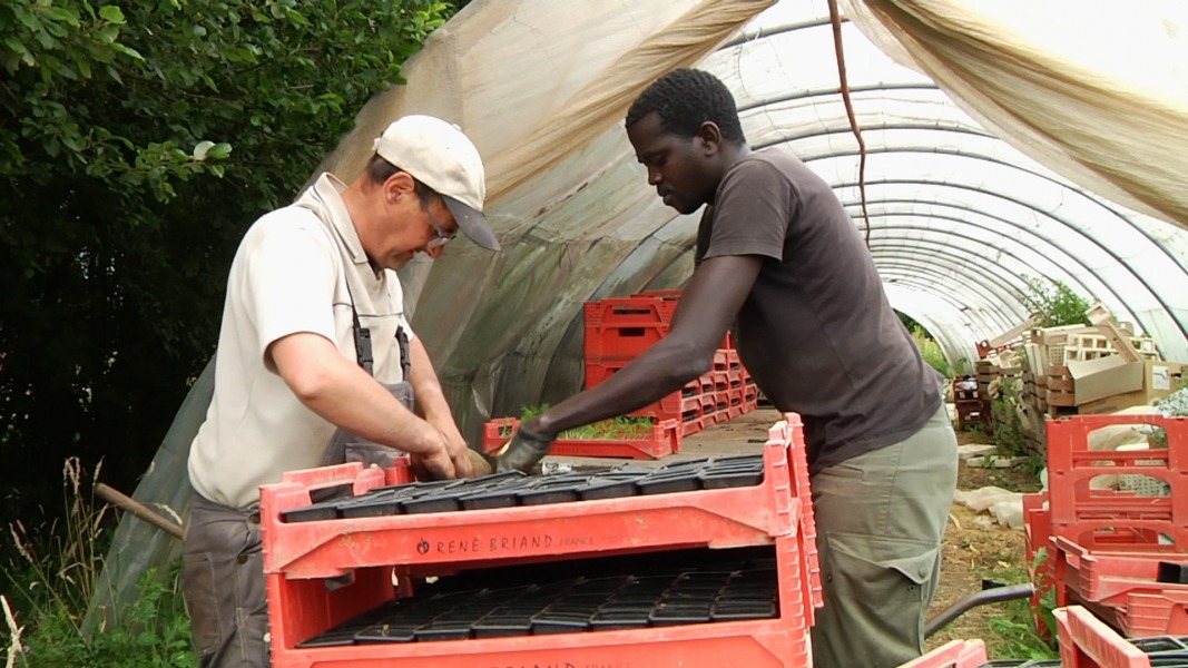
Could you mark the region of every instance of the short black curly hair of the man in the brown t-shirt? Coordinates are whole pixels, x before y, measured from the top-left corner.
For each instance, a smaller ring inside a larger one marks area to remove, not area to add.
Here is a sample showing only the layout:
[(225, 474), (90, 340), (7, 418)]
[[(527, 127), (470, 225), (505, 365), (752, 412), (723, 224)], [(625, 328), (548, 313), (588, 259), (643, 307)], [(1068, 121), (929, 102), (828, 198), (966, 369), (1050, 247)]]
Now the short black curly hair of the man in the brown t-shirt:
[(689, 68), (672, 70), (639, 94), (627, 109), (627, 127), (656, 112), (665, 132), (694, 137), (704, 121), (713, 121), (722, 138), (746, 143), (734, 96), (716, 76)]

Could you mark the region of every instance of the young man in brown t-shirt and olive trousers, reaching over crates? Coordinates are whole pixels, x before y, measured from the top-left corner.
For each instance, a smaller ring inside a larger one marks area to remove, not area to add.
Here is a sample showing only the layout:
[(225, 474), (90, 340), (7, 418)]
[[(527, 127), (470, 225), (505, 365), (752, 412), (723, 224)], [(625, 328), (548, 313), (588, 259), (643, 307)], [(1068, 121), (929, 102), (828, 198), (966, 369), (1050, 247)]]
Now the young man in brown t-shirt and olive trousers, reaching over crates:
[(832, 189), (788, 152), (752, 151), (721, 81), (664, 75), (632, 105), (626, 130), (665, 204), (706, 207), (695, 270), (669, 334), (525, 423), (498, 467), (526, 471), (556, 434), (680, 390), (709, 370), (733, 328), (759, 389), (804, 421), (824, 593), (814, 666), (918, 656), (956, 485), (941, 377), (891, 309)]

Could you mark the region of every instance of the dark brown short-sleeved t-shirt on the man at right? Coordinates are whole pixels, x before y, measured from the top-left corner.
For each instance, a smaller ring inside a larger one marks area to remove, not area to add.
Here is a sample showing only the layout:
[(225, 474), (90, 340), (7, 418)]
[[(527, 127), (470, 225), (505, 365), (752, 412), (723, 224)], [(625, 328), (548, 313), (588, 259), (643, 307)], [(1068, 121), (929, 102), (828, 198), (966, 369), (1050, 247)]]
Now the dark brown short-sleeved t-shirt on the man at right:
[(742, 364), (804, 420), (813, 472), (902, 441), (936, 412), (941, 377), (891, 309), (833, 190), (777, 150), (731, 166), (697, 232), (697, 261), (763, 256), (738, 314)]

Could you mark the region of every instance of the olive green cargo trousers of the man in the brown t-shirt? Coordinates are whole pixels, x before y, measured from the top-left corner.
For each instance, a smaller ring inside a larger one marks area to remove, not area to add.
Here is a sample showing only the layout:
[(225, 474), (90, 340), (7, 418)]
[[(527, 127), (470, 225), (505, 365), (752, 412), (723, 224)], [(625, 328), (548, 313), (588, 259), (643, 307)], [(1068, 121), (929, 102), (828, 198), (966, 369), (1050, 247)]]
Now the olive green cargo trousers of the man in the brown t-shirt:
[(892, 668), (923, 654), (956, 477), (943, 404), (905, 441), (813, 475), (824, 594), (815, 668)]

